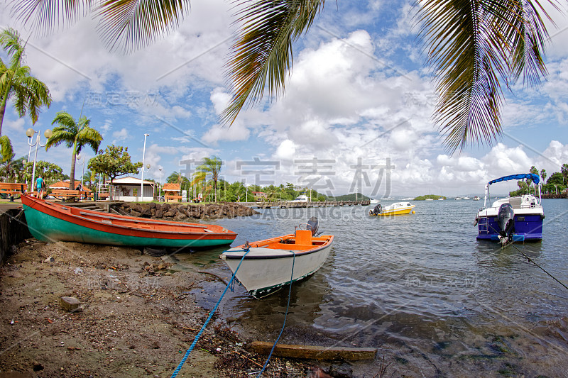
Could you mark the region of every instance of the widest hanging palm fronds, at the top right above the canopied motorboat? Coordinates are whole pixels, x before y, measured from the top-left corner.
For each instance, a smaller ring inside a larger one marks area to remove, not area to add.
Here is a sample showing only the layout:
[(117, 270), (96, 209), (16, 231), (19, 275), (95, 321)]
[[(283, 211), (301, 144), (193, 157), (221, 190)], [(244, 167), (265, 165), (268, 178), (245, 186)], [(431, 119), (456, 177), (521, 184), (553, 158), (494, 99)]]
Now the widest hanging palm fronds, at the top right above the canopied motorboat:
[(509, 77), (523, 72), (534, 82), (543, 74), (542, 44), (525, 49), (528, 43), (544, 42), (543, 26), (537, 22), (537, 29), (532, 28), (540, 18), (534, 7), (528, 17), (523, 10), (530, 1), (523, 3), (420, 1), (421, 36), (430, 45), (429, 61), (437, 76), (434, 118), (451, 152), (491, 144), (501, 134), (501, 82), (508, 86)]

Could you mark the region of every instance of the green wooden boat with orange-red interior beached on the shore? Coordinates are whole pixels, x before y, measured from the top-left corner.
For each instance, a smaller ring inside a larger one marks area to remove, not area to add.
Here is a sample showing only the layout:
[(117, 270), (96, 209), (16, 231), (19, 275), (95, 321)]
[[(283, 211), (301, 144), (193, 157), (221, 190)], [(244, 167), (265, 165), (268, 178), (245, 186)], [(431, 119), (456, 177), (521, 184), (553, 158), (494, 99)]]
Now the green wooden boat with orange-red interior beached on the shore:
[(153, 248), (214, 247), (231, 244), (236, 233), (222, 226), (121, 216), (21, 196), (34, 238)]

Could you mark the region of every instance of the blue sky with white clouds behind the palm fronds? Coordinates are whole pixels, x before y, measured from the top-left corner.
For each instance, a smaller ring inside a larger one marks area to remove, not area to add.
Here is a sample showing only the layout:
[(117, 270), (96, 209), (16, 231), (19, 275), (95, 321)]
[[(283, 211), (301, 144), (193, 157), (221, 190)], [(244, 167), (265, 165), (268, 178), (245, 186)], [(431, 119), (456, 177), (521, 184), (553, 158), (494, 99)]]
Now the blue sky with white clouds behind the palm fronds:
[[(328, 1), (293, 48), (285, 93), (241, 111), (231, 127), (218, 116), (231, 98), (224, 65), (234, 40), (231, 1), (192, 0), (175, 30), (124, 55), (106, 48), (89, 15), (38, 34), (0, 5), (0, 27), (28, 39), (26, 64), (48, 84), (53, 102), (35, 125), (9, 103), (2, 134), (16, 157), (28, 154), (26, 130), (43, 131), (58, 111), (80, 115), (122, 145), (144, 178), (190, 175), (204, 157), (224, 162), (222, 179), (246, 184), (312, 187), (339, 196), (483, 194), (484, 184), (534, 165), (548, 176), (568, 162), (568, 19), (550, 9), (540, 87), (515, 86), (503, 104), (503, 135), (450, 155), (432, 122), (435, 82), (417, 39), (410, 1)], [(2, 55), (5, 58), (5, 55)], [(144, 148), (144, 134), (146, 148)], [(33, 152), (32, 150), (32, 159)], [(88, 160), (94, 152), (85, 148)], [(27, 155), (26, 155), (27, 156)], [(71, 150), (38, 150), (70, 173)], [(160, 171), (161, 169), (161, 171)], [(78, 165), (76, 177), (82, 166)], [(138, 174), (140, 176), (140, 174)], [(515, 182), (493, 191), (506, 193)]]

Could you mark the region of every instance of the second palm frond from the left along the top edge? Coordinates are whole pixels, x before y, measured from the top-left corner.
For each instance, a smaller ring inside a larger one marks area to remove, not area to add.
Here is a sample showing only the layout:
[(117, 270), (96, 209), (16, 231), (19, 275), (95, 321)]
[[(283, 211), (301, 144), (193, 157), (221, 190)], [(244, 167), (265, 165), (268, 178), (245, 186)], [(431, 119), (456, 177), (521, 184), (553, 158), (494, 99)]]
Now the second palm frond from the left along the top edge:
[(189, 0), (107, 0), (97, 8), (99, 33), (110, 50), (144, 48), (176, 28)]

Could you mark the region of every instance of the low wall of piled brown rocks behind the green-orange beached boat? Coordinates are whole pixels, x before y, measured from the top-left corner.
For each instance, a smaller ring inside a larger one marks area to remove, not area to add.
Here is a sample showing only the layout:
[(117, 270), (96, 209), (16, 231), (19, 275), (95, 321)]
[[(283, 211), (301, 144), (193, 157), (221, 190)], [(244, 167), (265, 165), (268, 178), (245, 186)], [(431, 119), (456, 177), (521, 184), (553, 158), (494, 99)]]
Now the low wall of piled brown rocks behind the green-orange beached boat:
[(258, 214), (247, 206), (235, 203), (226, 204), (137, 204), (128, 202), (120, 205), (121, 211), (130, 216), (142, 218), (170, 219), (172, 221), (186, 221), (187, 219), (217, 219), (234, 218), (236, 216), (251, 216)]

